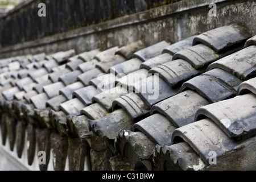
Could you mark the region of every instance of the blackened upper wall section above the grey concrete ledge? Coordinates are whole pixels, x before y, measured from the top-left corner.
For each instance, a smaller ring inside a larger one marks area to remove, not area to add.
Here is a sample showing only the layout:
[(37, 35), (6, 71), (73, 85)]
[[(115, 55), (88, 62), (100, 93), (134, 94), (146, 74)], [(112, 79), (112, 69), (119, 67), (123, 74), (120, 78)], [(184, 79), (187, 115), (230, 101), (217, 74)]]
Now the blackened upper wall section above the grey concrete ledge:
[[(2, 47), (6, 47), (44, 38), (172, 2), (170, 0), (30, 0), (2, 16), (0, 43)], [(46, 4), (46, 17), (38, 16), (39, 3)]]

